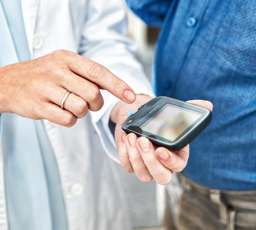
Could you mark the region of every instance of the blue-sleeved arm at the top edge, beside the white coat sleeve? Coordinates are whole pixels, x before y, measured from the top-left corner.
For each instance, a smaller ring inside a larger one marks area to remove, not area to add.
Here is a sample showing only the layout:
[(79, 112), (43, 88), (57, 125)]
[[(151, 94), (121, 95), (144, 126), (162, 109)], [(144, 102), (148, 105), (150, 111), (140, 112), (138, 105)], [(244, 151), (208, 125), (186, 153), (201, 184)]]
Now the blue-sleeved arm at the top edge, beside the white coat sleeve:
[(159, 27), (172, 0), (126, 0), (126, 2), (148, 26)]

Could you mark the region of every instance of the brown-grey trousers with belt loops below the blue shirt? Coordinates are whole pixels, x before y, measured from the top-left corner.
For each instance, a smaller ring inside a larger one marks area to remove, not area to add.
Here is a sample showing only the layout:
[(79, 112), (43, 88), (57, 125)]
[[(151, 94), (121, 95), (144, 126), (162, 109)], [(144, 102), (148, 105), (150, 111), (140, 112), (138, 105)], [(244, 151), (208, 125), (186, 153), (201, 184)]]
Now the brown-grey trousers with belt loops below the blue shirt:
[(168, 230), (256, 230), (256, 191), (208, 189), (178, 173), (166, 189), (164, 224)]

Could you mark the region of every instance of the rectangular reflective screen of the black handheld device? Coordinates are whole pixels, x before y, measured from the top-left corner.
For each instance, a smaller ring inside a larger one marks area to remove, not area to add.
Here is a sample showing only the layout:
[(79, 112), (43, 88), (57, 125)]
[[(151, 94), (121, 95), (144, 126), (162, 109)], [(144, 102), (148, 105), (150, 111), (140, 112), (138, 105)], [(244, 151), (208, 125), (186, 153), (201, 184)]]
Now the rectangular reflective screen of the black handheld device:
[(166, 103), (139, 128), (173, 142), (201, 116), (201, 112)]

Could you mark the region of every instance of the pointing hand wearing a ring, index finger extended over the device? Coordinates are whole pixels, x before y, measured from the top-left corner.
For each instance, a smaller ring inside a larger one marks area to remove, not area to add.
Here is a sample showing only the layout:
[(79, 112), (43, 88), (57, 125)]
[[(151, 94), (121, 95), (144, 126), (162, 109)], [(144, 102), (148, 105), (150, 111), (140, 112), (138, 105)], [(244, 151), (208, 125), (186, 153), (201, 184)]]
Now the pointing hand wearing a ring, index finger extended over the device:
[[(0, 113), (71, 127), (88, 109), (97, 111), (103, 106), (99, 89), (110, 91), (125, 103), (136, 99), (134, 91), (102, 65), (59, 50), (0, 68)], [(68, 90), (72, 93), (61, 109)]]

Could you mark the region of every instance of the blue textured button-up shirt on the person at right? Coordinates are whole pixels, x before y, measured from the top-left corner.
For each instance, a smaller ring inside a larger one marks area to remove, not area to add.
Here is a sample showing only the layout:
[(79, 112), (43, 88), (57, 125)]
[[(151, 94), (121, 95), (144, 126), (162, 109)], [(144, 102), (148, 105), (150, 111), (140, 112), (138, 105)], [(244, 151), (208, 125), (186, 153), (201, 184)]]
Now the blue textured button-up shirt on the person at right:
[(162, 27), (156, 94), (214, 105), (183, 172), (211, 188), (256, 190), (256, 2), (127, 2), (148, 25)]

